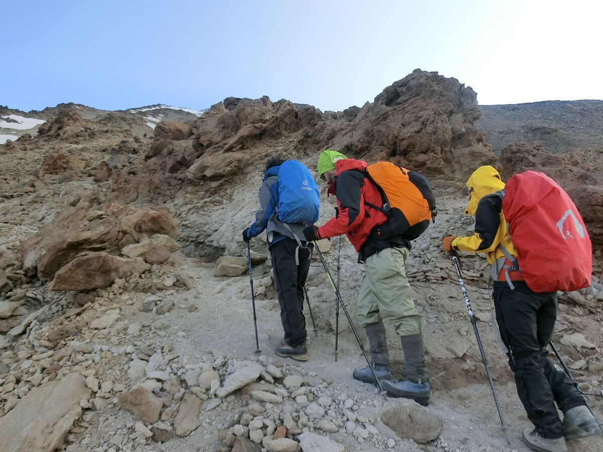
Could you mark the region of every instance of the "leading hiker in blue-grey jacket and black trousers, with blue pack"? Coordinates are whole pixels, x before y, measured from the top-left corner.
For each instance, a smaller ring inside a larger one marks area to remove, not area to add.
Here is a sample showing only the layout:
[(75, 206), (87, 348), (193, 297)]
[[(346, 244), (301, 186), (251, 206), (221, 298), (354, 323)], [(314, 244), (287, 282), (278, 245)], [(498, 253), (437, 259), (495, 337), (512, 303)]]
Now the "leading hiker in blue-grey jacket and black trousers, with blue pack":
[[(309, 356), (306, 345), (306, 319), (303, 315), (304, 286), (310, 269), (314, 245), (307, 243), (303, 236), (304, 216), (307, 216), (305, 209), (308, 206), (297, 206), (297, 213), (301, 213), (300, 223), (280, 221), (281, 218), (285, 218), (284, 215), (289, 217), (296, 215), (296, 212), (289, 214), (283, 210), (277, 212), (279, 202), (283, 201), (280, 196), (284, 196), (282, 192), (279, 192), (279, 187), (283, 189), (287, 183), (287, 181), (281, 183), (282, 174), (279, 175), (285, 166), (292, 169), (294, 175), (301, 174), (305, 177), (298, 185), (305, 187), (301, 191), (302, 196), (311, 196), (309, 209), (312, 212), (308, 218), (318, 219), (318, 187), (312, 179), (311, 173), (299, 162), (294, 160), (285, 162), (282, 159), (274, 158), (266, 165), (260, 187), (261, 208), (256, 213), (256, 221), (243, 231), (243, 240), (247, 242), (266, 230), (274, 270), (274, 283), (279, 295), (280, 320), (285, 331), (284, 341), (274, 348), (274, 352), (279, 356), (306, 361)], [(306, 184), (302, 185), (304, 182)], [(311, 187), (312, 190), (308, 190), (308, 187)], [(290, 194), (285, 193), (287, 196)], [(295, 199), (291, 199), (290, 196), (284, 201), (285, 207), (295, 207), (296, 205)]]

